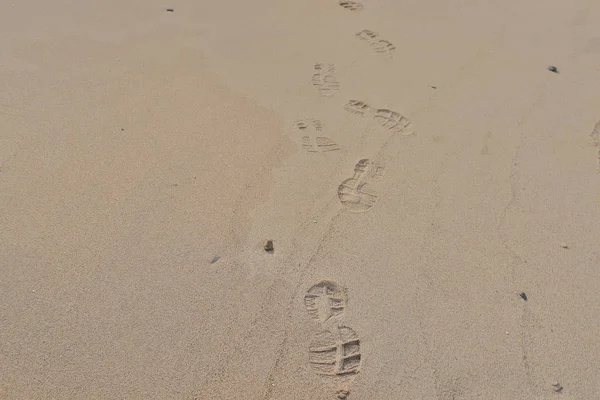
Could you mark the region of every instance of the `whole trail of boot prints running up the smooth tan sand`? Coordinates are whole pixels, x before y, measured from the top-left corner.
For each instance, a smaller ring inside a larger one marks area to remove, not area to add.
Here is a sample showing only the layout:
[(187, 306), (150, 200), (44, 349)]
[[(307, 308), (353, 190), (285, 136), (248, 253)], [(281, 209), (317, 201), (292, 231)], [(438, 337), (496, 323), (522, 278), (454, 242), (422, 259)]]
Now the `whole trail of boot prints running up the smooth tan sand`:
[[(338, 0), (340, 7), (360, 11), (363, 4), (356, 0)], [(368, 44), (377, 54), (391, 58), (396, 47), (370, 30), (362, 30), (355, 36)], [(340, 92), (341, 84), (334, 64), (316, 63), (310, 80), (320, 97), (331, 98)], [(344, 105), (350, 114), (375, 121), (392, 134), (410, 135), (410, 121), (400, 113), (375, 108), (359, 100)], [(306, 153), (329, 153), (340, 146), (325, 136), (323, 123), (318, 119), (299, 119), (293, 122), (294, 131), (301, 134), (300, 144)], [(359, 160), (354, 174), (345, 179), (337, 189), (339, 201), (345, 211), (362, 213), (373, 208), (382, 193), (385, 168), (368, 158)], [(336, 398), (347, 399), (349, 387), (360, 371), (360, 339), (356, 332), (342, 323), (347, 304), (346, 289), (332, 281), (322, 281), (312, 286), (304, 296), (308, 314), (316, 323), (308, 346), (308, 360), (312, 369), (332, 381), (336, 386)]]

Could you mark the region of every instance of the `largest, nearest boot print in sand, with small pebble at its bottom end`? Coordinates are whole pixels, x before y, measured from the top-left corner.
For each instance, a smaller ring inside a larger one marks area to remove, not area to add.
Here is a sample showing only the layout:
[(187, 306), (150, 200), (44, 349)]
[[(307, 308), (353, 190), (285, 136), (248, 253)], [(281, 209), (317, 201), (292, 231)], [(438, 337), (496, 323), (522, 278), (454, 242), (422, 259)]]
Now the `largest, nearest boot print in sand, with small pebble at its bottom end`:
[(319, 324), (309, 345), (309, 364), (335, 384), (338, 399), (348, 398), (361, 360), (358, 335), (342, 325), (346, 303), (346, 289), (331, 281), (317, 283), (304, 296), (308, 314)]

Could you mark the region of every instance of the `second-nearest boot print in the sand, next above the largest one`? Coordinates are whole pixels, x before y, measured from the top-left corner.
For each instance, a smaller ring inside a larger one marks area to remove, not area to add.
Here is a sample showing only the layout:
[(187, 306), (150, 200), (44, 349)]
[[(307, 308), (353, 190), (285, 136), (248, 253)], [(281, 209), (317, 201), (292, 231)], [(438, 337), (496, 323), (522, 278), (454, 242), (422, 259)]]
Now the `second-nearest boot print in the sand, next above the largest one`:
[(354, 167), (354, 176), (338, 187), (338, 198), (350, 212), (369, 211), (381, 196), (378, 181), (385, 169), (368, 159), (360, 160)]

